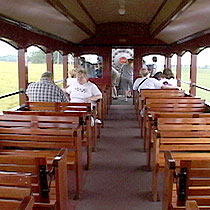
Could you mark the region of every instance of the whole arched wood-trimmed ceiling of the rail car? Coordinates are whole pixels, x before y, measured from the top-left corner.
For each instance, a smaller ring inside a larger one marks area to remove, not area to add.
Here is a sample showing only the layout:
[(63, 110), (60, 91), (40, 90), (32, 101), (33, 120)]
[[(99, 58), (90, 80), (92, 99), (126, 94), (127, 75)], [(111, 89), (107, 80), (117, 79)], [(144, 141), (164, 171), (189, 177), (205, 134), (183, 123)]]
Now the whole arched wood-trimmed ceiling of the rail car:
[(209, 19), (209, 0), (0, 0), (0, 20), (71, 44), (183, 43)]

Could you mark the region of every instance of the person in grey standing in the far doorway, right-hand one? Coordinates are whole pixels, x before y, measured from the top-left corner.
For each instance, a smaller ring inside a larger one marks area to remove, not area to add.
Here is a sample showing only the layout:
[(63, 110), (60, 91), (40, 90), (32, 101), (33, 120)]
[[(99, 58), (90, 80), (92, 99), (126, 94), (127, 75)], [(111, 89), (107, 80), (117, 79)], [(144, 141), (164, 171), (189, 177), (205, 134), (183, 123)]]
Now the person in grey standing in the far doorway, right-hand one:
[(129, 91), (133, 88), (133, 58), (127, 59), (127, 64), (121, 69), (121, 83), (125, 94), (125, 101), (128, 101)]

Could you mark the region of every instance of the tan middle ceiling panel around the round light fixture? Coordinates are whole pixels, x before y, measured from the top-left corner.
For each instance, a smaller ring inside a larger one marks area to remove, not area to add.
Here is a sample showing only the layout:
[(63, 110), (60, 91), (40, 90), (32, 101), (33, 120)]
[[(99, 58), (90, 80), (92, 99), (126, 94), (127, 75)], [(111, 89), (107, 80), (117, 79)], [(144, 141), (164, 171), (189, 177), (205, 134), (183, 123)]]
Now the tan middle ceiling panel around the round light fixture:
[[(135, 22), (149, 24), (164, 0), (125, 0), (125, 15), (120, 15), (119, 0), (81, 0), (97, 24)], [(152, 7), (151, 7), (152, 5)]]

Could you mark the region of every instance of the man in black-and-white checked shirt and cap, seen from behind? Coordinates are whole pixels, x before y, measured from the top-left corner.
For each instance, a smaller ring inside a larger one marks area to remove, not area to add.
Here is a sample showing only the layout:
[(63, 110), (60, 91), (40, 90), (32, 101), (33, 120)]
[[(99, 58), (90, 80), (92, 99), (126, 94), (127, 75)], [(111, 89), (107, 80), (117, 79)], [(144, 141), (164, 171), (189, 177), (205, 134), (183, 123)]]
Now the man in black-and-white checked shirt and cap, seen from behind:
[(66, 94), (52, 81), (50, 72), (44, 72), (39, 82), (29, 84), (26, 94), (29, 101), (68, 102)]

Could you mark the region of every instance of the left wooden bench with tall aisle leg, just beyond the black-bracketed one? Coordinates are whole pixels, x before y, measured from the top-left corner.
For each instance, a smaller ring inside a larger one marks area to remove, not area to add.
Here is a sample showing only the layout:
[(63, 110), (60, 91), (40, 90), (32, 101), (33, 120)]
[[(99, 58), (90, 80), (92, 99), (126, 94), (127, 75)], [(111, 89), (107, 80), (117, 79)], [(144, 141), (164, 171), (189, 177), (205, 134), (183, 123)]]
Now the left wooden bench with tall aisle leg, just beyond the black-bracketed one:
[[(81, 127), (72, 128), (68, 116), (36, 116), (36, 115), (1, 115), (0, 116), (0, 147), (27, 150), (38, 154), (47, 153), (54, 156), (53, 150), (66, 148), (69, 150), (71, 164), (76, 174), (76, 196), (79, 198), (82, 182), (82, 149)], [(68, 165), (69, 166), (69, 165)]]

